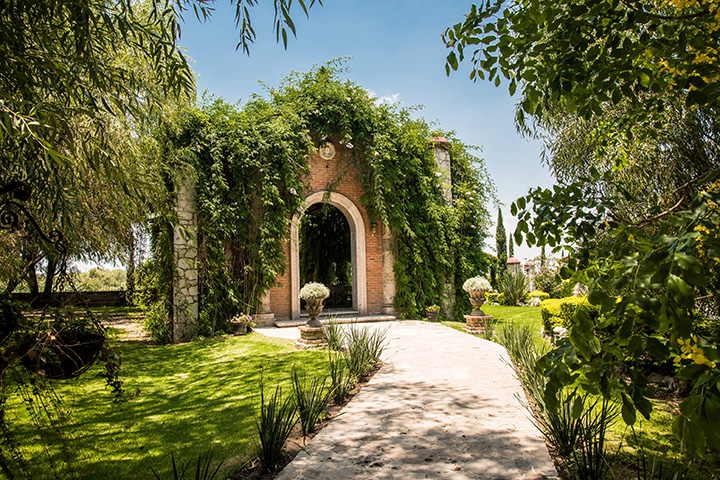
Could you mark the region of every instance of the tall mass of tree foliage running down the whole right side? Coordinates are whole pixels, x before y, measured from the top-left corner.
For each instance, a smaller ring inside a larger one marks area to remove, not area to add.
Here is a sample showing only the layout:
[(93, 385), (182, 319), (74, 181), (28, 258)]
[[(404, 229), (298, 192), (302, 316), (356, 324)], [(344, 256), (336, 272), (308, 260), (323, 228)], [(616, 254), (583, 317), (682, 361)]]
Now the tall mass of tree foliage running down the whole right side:
[(505, 78), (520, 128), (545, 129), (561, 183), (513, 203), (515, 240), (569, 251), (563, 277), (599, 308), (541, 360), (547, 404), (574, 384), (649, 418), (653, 358), (691, 385), (676, 437), (720, 445), (720, 331), (697, 310), (718, 296), (720, 2), (487, 1), (444, 38), (448, 73), (469, 58), (473, 79)]

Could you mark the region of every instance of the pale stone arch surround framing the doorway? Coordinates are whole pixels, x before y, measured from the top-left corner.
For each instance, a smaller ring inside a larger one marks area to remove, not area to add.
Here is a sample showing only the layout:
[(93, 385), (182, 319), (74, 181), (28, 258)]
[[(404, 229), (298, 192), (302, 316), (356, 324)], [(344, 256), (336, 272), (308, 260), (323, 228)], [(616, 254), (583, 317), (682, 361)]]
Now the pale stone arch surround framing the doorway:
[(336, 192), (315, 192), (305, 199), (300, 211), (290, 225), (290, 314), (293, 320), (300, 318), (300, 220), (311, 205), (326, 201), (340, 210), (350, 224), (350, 251), (352, 261), (353, 309), (367, 315), (367, 274), (365, 258), (365, 222), (360, 210), (344, 195)]

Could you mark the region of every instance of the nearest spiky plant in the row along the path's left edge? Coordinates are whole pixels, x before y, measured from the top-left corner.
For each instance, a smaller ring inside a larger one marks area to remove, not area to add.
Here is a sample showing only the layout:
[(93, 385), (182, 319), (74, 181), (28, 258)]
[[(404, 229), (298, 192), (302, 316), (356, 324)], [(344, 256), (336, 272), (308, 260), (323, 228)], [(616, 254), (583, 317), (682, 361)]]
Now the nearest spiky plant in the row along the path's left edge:
[(258, 432), (258, 459), (267, 472), (274, 472), (285, 454), (284, 446), (295, 426), (296, 413), (292, 397), (283, 399), (278, 385), (265, 402), (265, 386), (260, 375), (260, 415)]

